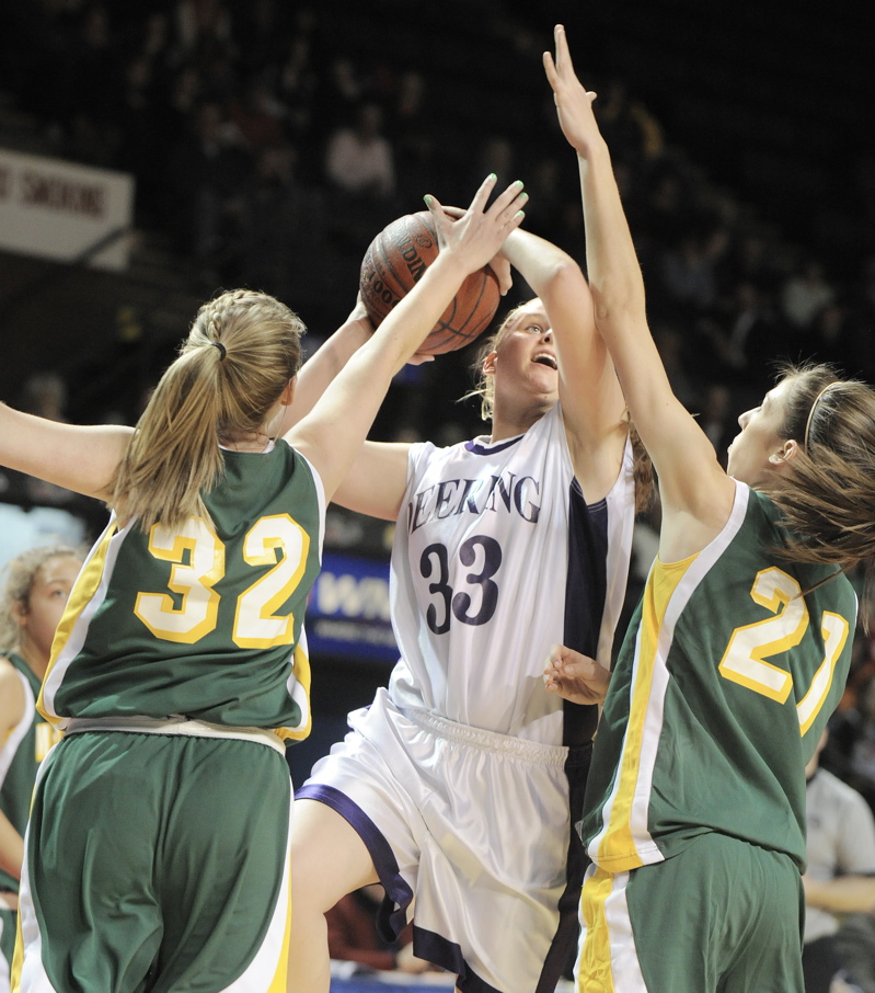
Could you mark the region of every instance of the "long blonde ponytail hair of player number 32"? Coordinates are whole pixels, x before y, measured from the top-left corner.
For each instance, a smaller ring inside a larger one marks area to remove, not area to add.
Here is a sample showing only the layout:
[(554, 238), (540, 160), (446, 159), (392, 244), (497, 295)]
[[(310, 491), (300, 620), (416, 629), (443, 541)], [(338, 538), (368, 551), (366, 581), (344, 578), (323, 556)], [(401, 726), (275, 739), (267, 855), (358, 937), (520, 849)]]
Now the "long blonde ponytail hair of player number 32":
[(202, 493), (221, 479), (219, 445), (256, 433), (301, 363), (304, 326), (264, 293), (204, 304), (116, 469), (110, 505), (148, 530), (209, 515)]

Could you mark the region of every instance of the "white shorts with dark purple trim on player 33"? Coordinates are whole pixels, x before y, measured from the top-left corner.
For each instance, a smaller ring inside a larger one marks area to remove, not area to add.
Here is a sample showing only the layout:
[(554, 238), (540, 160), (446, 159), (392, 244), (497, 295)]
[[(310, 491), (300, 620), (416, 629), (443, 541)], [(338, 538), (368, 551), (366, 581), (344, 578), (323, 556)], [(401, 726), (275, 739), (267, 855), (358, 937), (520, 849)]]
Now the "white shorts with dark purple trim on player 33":
[(416, 955), (463, 993), (553, 993), (577, 941), (585, 856), (569, 810), (590, 746), (401, 711), (384, 689), (349, 726), (296, 799), (361, 836), (388, 894), (383, 936), (412, 918)]

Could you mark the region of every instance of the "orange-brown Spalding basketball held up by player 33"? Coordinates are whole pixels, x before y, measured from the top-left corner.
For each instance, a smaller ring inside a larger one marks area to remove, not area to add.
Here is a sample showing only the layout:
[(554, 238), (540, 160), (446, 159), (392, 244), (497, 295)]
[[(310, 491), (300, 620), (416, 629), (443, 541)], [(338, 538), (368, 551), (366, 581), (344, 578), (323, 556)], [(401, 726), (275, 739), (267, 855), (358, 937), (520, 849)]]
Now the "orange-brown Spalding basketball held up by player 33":
[[(428, 210), (406, 214), (383, 228), (361, 260), (361, 299), (375, 327), (422, 277), (438, 253), (435, 222)], [(502, 295), (488, 266), (462, 283), (421, 352), (433, 355), (470, 344), (490, 327)]]

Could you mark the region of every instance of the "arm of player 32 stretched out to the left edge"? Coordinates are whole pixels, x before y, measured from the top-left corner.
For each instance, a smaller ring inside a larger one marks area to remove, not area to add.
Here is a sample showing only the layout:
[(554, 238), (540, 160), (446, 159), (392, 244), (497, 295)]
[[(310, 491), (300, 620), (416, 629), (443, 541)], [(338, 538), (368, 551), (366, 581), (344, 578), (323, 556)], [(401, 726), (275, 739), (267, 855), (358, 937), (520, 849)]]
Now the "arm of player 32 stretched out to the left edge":
[(0, 403), (0, 465), (106, 500), (133, 427), (62, 424)]

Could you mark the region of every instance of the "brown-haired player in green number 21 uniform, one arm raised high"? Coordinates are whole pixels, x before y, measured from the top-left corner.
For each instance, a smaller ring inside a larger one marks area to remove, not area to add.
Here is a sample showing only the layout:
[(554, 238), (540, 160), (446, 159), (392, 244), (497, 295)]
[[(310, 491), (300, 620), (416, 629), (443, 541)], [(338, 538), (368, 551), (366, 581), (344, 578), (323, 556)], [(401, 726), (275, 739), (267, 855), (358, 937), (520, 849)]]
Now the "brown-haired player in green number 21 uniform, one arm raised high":
[[(671, 391), (595, 94), (562, 27), (555, 44), (596, 321), (663, 503), (587, 783), (578, 990), (802, 993), (805, 765), (850, 662), (843, 572), (875, 552), (875, 391), (785, 370), (739, 418), (723, 471)], [(577, 698), (566, 658), (548, 681)]]

